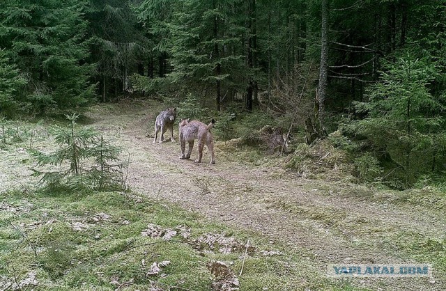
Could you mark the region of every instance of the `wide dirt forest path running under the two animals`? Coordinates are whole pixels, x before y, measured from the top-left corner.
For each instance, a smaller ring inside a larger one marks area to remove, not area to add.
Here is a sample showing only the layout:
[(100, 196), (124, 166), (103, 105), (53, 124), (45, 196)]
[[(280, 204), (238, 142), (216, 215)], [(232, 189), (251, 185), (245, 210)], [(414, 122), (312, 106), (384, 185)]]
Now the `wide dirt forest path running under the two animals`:
[[(337, 183), (295, 178), (282, 168), (238, 162), (231, 153), (219, 152), (218, 142), (215, 165), (207, 164), (207, 151), (203, 152), (203, 164), (194, 164), (196, 148), (191, 160), (179, 159), (178, 140), (152, 143), (153, 121), (161, 107), (145, 103), (127, 106), (93, 110), (90, 117), (93, 126), (114, 136), (118, 146), (129, 153), (128, 184), (134, 191), (178, 203), (211, 221), (255, 230), (311, 258), (321, 272), (326, 272), (330, 263), (410, 262), (392, 246), (381, 243), (387, 230), (398, 228), (433, 237), (445, 234), (444, 217), (343, 196)], [(178, 129), (174, 136), (178, 138)], [(370, 279), (361, 282), (372, 289), (378, 284), (381, 290), (446, 290), (445, 282), (438, 278), (435, 284), (429, 281), (392, 278), (379, 284)]]

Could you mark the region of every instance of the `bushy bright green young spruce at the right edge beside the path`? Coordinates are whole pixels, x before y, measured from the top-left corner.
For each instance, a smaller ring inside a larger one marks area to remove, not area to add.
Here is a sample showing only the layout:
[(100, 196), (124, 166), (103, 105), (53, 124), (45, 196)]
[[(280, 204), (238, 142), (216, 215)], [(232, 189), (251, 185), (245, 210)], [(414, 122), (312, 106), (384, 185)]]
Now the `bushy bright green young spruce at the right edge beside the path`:
[(367, 113), (367, 118), (355, 123), (357, 133), (367, 137), (404, 186), (423, 173), (440, 169), (438, 162), (445, 162), (444, 157), (442, 161), (436, 158), (441, 148), (444, 156), (444, 139), (440, 137), (445, 134), (444, 100), (431, 93), (437, 75), (431, 60), (407, 54), (390, 63), (380, 82), (369, 86), (369, 102), (356, 104), (358, 112)]

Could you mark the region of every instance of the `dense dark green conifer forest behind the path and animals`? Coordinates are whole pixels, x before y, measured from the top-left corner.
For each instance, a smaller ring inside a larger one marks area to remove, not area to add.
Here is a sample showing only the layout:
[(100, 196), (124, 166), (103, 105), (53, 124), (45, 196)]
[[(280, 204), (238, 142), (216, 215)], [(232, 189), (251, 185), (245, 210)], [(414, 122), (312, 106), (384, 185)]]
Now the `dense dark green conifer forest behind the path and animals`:
[(0, 114), (155, 96), (227, 138), (338, 131), (362, 180), (443, 183), (445, 45), (445, 0), (4, 0)]

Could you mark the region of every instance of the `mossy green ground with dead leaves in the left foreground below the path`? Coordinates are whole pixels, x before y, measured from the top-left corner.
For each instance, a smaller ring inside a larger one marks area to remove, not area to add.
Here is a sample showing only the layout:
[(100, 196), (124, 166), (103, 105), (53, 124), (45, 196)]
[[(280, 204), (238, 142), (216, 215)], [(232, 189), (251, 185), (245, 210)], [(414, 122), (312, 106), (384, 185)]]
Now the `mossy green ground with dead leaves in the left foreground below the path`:
[[(256, 233), (133, 194), (7, 191), (0, 201), (4, 290), (17, 284), (21, 290), (211, 290), (214, 279), (206, 265), (215, 260), (230, 266), (241, 290), (330, 290), (338, 284), (324, 278), (301, 253)], [(171, 230), (185, 226), (190, 237), (143, 235), (149, 225)], [(221, 253), (218, 246), (203, 248), (196, 239), (204, 234), (224, 234), (241, 247), (230, 253)], [(166, 261), (170, 263), (151, 274), (154, 263)]]

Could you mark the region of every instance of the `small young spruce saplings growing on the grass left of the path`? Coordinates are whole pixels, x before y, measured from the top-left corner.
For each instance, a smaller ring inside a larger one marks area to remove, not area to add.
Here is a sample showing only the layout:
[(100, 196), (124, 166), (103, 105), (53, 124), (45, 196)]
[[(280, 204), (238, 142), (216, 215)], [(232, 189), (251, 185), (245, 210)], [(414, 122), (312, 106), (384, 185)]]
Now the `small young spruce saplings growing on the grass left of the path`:
[(58, 150), (49, 154), (30, 150), (38, 166), (68, 164), (69, 167), (60, 171), (33, 170), (35, 175), (42, 176), (49, 187), (63, 184), (89, 189), (123, 188), (123, 169), (127, 165), (119, 162), (120, 150), (91, 128), (77, 129), (75, 120), (78, 117), (76, 114), (67, 116), (71, 122), (69, 127), (52, 127)]

